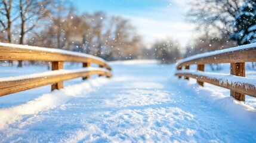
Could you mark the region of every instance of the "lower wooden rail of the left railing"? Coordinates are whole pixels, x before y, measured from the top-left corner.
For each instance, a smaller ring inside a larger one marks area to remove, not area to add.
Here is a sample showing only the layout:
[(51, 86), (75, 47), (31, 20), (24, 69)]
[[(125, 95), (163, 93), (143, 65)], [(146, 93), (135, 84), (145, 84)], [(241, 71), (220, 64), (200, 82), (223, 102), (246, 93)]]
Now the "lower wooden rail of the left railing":
[[(103, 71), (103, 70), (93, 70), (93, 71), (73, 71), (70, 70), (70, 73), (63, 74), (58, 73), (51, 76), (37, 76), (30, 77), (27, 79), (19, 79), (19, 80), (8, 80), (0, 82), (0, 97), (8, 94), (13, 94), (20, 91), (25, 91), (27, 89), (37, 88), (44, 85), (49, 85), (57, 82), (61, 82), (64, 80), (75, 79), (77, 77), (85, 77), (92, 74), (103, 74), (108, 77), (111, 77), (112, 74)], [(54, 72), (54, 71), (51, 71)]]

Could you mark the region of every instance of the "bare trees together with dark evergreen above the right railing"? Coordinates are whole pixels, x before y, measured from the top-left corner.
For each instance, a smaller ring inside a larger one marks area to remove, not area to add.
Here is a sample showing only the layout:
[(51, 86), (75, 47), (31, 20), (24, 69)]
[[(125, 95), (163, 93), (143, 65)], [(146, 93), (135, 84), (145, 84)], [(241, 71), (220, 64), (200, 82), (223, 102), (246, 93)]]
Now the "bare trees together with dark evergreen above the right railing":
[(255, 0), (199, 0), (190, 5), (187, 18), (201, 35), (187, 45), (184, 57), (256, 42)]

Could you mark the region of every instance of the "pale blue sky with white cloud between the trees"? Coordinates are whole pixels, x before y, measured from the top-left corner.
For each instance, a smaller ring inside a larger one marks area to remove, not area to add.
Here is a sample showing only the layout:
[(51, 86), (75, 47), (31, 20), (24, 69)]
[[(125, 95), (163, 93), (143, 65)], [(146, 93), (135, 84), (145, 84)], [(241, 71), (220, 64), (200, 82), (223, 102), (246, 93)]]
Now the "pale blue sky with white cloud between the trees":
[(192, 24), (185, 20), (186, 1), (181, 0), (73, 0), (79, 12), (104, 11), (131, 20), (146, 46), (156, 39), (172, 38), (185, 46)]

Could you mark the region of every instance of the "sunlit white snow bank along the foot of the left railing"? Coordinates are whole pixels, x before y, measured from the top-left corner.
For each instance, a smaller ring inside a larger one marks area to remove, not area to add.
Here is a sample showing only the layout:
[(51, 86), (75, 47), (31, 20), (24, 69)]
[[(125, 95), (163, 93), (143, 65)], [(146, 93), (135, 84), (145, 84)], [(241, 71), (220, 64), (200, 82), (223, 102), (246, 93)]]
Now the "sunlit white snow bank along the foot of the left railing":
[[(35, 114), (36, 116), (39, 112), (61, 107), (61, 105), (70, 100), (70, 97), (78, 97), (78, 95), (82, 93), (90, 92), (93, 88), (103, 85), (107, 83), (107, 81), (108, 80), (104, 78), (88, 80), (88, 82), (67, 86), (59, 91), (55, 90), (51, 94), (42, 95), (26, 104), (2, 108), (0, 109), (0, 130), (7, 128), (13, 123), (23, 122), (22, 119), (26, 115)], [(87, 94), (85, 94), (85, 96), (86, 95)]]

